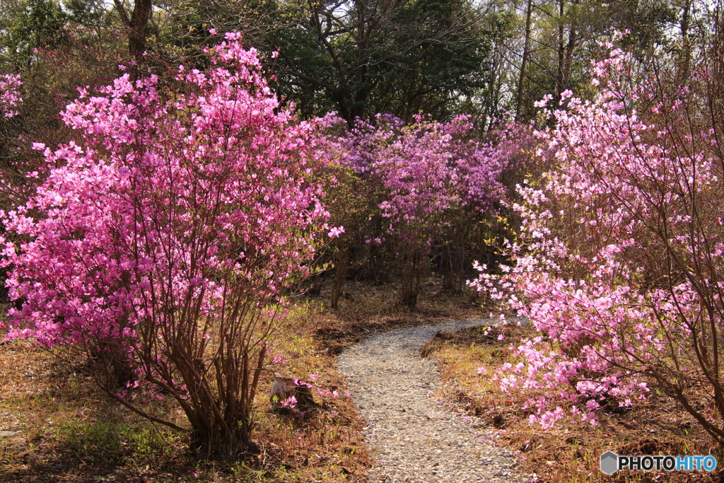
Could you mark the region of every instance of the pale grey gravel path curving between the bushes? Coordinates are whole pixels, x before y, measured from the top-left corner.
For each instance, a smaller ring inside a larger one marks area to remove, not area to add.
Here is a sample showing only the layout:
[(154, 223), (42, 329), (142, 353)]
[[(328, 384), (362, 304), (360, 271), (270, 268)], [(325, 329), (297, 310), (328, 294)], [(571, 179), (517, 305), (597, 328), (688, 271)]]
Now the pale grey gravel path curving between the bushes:
[(376, 467), (372, 483), (525, 482), (510, 451), (494, 448), (476, 419), (434, 400), (441, 389), (434, 361), (420, 349), (437, 331), (487, 324), (463, 320), (369, 337), (337, 359), (352, 400), (367, 422), (365, 439)]

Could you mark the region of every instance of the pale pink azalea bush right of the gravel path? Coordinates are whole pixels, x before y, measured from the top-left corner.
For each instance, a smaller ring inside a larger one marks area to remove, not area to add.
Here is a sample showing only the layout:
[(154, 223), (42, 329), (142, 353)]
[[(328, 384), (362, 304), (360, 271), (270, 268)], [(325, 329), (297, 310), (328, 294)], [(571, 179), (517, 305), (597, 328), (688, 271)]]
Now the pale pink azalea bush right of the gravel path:
[(594, 65), (596, 98), (568, 91), (546, 107), (555, 127), (536, 135), (555, 167), (519, 187), (511, 263), (500, 276), (480, 266), (472, 285), (538, 332), (496, 376), (503, 390), (542, 394), (529, 400), (531, 422), (552, 427), (571, 407), (595, 424), (653, 382), (722, 442), (723, 157), (716, 112), (699, 97), (719, 90), (705, 64), (681, 87), (637, 85), (628, 62), (613, 49)]

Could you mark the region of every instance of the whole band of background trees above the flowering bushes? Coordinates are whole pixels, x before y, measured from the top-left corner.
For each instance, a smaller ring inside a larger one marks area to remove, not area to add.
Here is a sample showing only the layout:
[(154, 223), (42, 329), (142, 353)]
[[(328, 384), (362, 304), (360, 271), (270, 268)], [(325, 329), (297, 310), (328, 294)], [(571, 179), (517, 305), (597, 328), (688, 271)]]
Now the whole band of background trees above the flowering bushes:
[[(272, 84), (304, 117), (472, 114), (489, 127), (526, 122), (544, 95), (585, 85), (599, 40), (614, 30), (631, 31), (625, 42), (642, 69), (662, 53), (691, 57), (697, 12), (707, 8), (703, 0), (0, 0), (0, 59), (4, 72), (32, 69), (34, 49), (70, 45), (73, 32), (101, 57), (122, 37), (135, 59), (150, 51), (173, 61), (196, 55), (210, 28), (238, 30), (267, 54)], [(88, 52), (79, 58), (98, 63)]]

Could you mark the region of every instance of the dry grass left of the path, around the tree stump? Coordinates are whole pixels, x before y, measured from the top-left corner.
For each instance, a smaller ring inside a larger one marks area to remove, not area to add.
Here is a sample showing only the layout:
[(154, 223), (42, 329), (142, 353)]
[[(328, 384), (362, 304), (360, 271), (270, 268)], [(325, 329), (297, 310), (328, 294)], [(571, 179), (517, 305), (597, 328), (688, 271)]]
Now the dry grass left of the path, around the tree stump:
[[(363, 482), (369, 467), (361, 421), (334, 359), (311, 337), (317, 303), (292, 310), (273, 342), (270, 369), (256, 400), (254, 437), (261, 453), (240, 461), (198, 461), (185, 434), (140, 419), (118, 406), (83, 373), (46, 350), (13, 341), (0, 345), (2, 482)], [(271, 364), (281, 355), (287, 364)], [(301, 415), (271, 408), (273, 375), (319, 373), (318, 406)], [(329, 395), (327, 395), (329, 390)], [(332, 391), (342, 393), (334, 398)], [(183, 424), (170, 402), (146, 410)]]

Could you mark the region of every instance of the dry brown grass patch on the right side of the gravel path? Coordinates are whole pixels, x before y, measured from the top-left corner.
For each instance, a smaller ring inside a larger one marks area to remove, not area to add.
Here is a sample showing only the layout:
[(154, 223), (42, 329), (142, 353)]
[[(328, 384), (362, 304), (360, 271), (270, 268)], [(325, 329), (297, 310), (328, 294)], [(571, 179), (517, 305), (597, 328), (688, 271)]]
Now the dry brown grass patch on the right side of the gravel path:
[[(501, 392), (490, 379), (505, 362), (515, 363), (508, 351), (531, 332), (531, 327), (502, 327), (485, 335), (483, 329), (439, 333), (424, 353), (437, 358), (445, 382), (445, 397), (458, 408), (479, 416), (497, 428), (495, 444), (516, 451), (526, 473), (540, 482), (719, 482), (721, 474), (707, 472), (624, 471), (607, 476), (599, 471), (599, 457), (607, 450), (619, 455), (696, 455), (715, 451), (710, 437), (691, 416), (660, 395), (636, 403), (630, 411), (603, 412), (599, 424), (564, 420), (543, 432), (527, 418), (532, 410), (521, 409), (534, 392)], [(479, 375), (478, 369), (484, 368)]]

